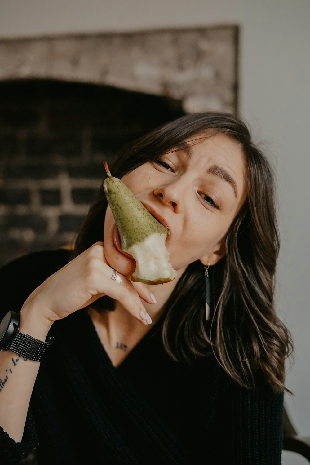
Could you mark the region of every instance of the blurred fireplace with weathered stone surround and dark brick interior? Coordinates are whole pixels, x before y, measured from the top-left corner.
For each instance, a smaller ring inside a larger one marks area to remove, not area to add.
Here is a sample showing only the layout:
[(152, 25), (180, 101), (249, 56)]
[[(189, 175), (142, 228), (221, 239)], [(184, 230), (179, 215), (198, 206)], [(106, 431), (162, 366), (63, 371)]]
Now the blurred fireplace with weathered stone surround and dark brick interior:
[(0, 40), (0, 266), (73, 243), (125, 143), (237, 112), (238, 27)]

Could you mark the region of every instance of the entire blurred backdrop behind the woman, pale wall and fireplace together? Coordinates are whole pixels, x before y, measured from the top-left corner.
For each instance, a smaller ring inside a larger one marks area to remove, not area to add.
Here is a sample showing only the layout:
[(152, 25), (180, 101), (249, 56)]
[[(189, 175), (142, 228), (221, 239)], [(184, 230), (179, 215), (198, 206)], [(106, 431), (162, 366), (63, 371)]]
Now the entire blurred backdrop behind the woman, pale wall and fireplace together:
[(71, 244), (124, 143), (185, 113), (239, 112), (277, 173), (277, 308), (295, 343), (285, 404), (303, 436), (309, 21), (309, 0), (0, 0), (0, 265)]

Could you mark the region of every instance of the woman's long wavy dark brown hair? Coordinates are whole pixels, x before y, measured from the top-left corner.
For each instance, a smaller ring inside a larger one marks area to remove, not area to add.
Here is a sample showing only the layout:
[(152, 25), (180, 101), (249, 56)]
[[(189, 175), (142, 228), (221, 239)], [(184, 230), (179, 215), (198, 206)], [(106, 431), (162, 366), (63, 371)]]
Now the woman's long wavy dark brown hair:
[[(292, 344), (274, 305), (279, 251), (275, 186), (270, 164), (251, 141), (244, 122), (218, 112), (183, 116), (125, 146), (112, 166), (112, 175), (121, 178), (147, 161), (180, 150), (185, 140), (201, 140), (202, 134), (225, 134), (241, 144), (247, 197), (225, 236), (224, 257), (209, 270), (211, 320), (204, 318), (204, 267), (198, 260), (187, 266), (165, 304), (165, 350), (185, 364), (213, 352), (239, 385), (254, 388), (263, 377), (275, 392), (282, 392), (284, 360)], [(107, 205), (101, 187), (77, 236), (74, 256), (103, 240)], [(98, 311), (114, 309), (108, 297), (93, 306)]]

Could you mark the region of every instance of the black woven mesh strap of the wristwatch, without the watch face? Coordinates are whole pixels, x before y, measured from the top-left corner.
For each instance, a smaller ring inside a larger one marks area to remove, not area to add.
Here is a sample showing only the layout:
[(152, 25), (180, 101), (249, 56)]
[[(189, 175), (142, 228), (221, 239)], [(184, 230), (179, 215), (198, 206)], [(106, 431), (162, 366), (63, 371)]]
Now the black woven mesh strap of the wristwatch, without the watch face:
[(16, 331), (14, 339), (8, 349), (17, 353), (20, 357), (25, 357), (25, 359), (41, 362), (52, 343), (53, 338), (50, 336), (47, 336), (44, 342), (29, 336), (29, 334)]

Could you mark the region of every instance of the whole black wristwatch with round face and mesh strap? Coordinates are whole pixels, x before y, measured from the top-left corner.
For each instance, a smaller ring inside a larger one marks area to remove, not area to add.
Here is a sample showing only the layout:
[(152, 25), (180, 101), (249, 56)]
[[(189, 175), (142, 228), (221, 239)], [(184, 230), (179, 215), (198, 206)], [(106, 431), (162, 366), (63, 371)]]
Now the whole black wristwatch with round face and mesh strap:
[(29, 334), (19, 331), (20, 314), (12, 310), (7, 312), (0, 323), (0, 350), (11, 350), (24, 359), (41, 362), (50, 346), (53, 338), (46, 337), (46, 341), (35, 339)]

